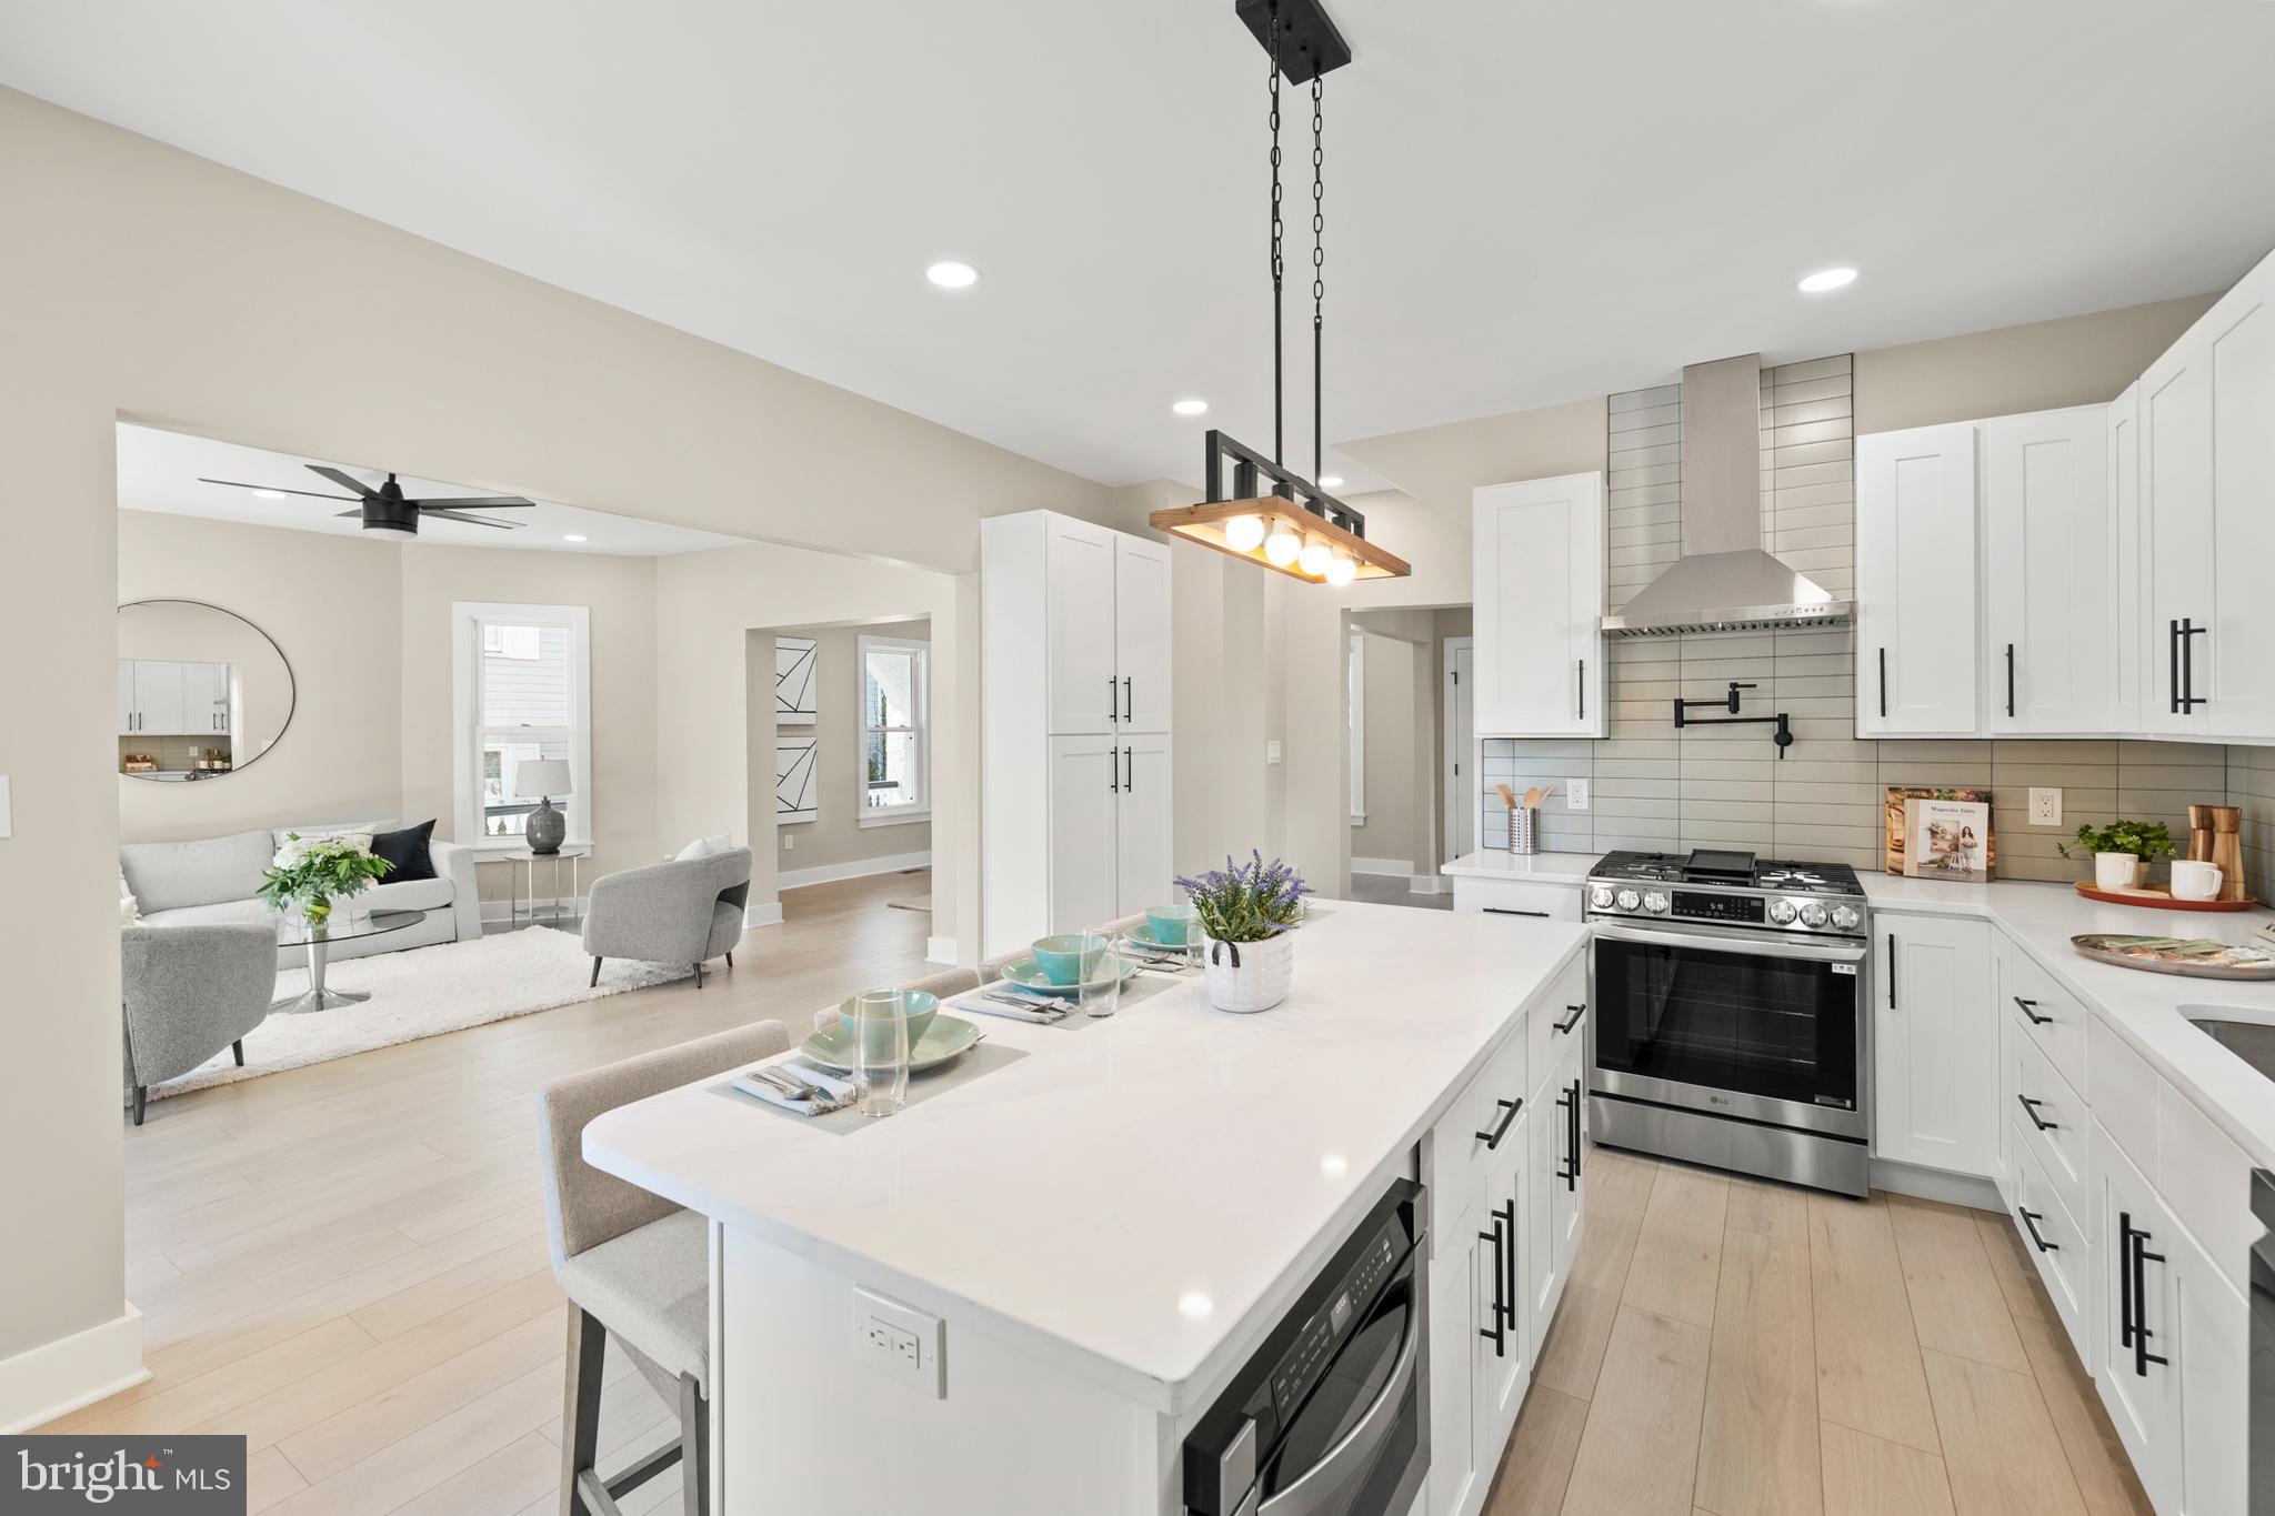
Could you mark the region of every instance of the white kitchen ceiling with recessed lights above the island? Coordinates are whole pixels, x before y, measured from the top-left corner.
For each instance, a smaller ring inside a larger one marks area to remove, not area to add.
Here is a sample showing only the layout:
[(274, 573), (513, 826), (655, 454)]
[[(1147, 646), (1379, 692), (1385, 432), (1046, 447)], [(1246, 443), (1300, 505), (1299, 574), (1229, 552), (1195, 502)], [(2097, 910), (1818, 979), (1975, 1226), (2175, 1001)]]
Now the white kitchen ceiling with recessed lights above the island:
[[(2198, 293), (2275, 243), (2268, 0), (1333, 11), (1338, 439)], [(1194, 480), (1208, 423), (1269, 443), (1233, 0), (11, 0), (0, 80), (1103, 482)], [(1829, 264), (1863, 280), (1795, 293)]]

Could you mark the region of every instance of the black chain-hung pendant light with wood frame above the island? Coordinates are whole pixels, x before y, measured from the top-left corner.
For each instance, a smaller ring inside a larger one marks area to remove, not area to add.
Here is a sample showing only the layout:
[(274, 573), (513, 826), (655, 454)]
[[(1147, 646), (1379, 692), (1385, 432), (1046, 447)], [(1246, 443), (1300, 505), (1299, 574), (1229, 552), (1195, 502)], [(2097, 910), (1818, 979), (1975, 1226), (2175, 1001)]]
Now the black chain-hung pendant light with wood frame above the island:
[[(1324, 466), (1322, 348), (1326, 332), (1326, 114), (1324, 77), (1351, 61), (1351, 48), (1322, 0), (1238, 0), (1235, 11), (1269, 64), (1272, 125), (1272, 457), (1210, 427), (1201, 461), (1208, 500), (1153, 511), (1163, 532), (1215, 548), (1306, 584), (1401, 580), (1406, 559), (1367, 541), (1367, 518), (1315, 484)], [(1283, 366), (1285, 255), (1281, 223), (1281, 80), (1310, 84), (1310, 480), (1285, 466)], [(1231, 482), (1226, 482), (1231, 464)], [(1269, 493), (1260, 486), (1269, 482)]]

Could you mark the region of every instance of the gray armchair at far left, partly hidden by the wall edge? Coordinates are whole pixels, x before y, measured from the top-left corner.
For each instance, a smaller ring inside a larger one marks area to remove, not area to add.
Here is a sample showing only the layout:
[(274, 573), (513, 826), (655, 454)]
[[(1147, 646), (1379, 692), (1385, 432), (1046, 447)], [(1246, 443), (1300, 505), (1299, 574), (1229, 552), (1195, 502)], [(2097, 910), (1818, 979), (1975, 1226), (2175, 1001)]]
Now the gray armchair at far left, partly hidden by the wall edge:
[(125, 1086), (139, 1127), (152, 1084), (180, 1080), (223, 1048), (243, 1068), (243, 1036), (275, 998), (278, 934), (237, 923), (123, 927), (118, 946)]

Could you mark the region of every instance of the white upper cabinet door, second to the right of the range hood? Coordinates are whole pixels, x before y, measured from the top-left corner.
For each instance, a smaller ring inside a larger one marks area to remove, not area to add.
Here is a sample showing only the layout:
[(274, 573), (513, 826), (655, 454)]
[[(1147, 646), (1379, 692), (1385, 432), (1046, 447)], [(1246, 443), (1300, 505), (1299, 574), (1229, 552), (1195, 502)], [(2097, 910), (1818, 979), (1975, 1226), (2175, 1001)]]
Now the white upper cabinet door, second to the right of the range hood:
[(1982, 423), (1984, 689), (1993, 736), (2118, 727), (2109, 407)]

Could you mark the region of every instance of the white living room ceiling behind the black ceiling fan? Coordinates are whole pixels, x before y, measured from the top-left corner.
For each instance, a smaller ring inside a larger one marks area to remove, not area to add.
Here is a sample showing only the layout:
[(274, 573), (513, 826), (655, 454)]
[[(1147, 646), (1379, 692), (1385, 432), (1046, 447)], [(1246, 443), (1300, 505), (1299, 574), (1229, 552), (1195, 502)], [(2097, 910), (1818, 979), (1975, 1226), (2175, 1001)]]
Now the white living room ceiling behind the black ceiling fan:
[[(264, 448), (239, 448), (209, 436), (187, 432), (159, 432), (157, 427), (118, 427), (118, 509), (159, 511), (166, 516), (205, 516), (207, 520), (241, 520), (255, 527), (291, 527), (296, 532), (330, 532), (332, 536), (359, 536), (364, 525), (357, 518), (341, 518), (339, 511), (355, 509), (348, 500), (309, 500), (307, 495), (284, 495), (264, 500), (250, 489), (228, 484), (202, 484), (200, 480), (243, 480), (273, 489), (314, 489), (344, 495), (346, 491), (312, 475), (307, 464), (330, 464), (330, 459), (305, 459)], [(346, 473), (378, 486), (384, 468), (359, 464), (337, 464)], [(444, 480), (419, 480), (400, 475), (403, 493), (414, 500), (441, 500), (450, 495), (494, 495), (491, 489), (466, 489)], [(587, 511), (576, 505), (539, 500), (532, 509), (473, 509), (473, 516), (521, 523), (510, 532), (478, 527), (462, 520), (419, 520), (419, 541), (444, 548), (523, 548), (539, 552), (612, 552), (628, 557), (660, 557), (667, 552), (701, 552), (705, 548), (739, 548), (744, 539), (719, 536), (714, 532), (692, 532), (667, 527), (630, 516)], [(569, 536), (582, 536), (571, 543)], [(400, 541), (375, 536), (373, 541)]]

